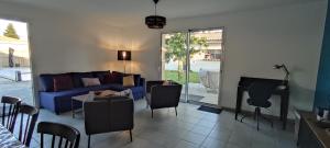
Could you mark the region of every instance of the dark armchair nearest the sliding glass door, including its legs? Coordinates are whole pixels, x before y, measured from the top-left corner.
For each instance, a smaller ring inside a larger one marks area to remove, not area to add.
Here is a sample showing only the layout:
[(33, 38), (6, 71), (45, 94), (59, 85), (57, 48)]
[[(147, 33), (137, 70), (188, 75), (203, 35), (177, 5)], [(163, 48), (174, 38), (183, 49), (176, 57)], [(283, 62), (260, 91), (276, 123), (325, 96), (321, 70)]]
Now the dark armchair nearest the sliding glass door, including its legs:
[(176, 107), (180, 100), (183, 86), (174, 81), (169, 81), (167, 84), (163, 83), (164, 81), (146, 82), (146, 102), (152, 110), (152, 117), (155, 109), (163, 107), (175, 107), (175, 114), (177, 115)]

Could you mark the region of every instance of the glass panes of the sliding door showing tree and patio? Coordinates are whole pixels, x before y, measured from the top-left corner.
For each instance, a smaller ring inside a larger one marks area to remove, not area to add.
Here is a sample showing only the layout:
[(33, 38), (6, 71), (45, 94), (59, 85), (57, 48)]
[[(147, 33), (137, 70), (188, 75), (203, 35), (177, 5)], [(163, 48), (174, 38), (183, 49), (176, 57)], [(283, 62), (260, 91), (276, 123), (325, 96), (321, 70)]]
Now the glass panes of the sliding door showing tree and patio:
[(222, 33), (219, 29), (162, 35), (162, 78), (184, 86), (183, 101), (218, 105)]

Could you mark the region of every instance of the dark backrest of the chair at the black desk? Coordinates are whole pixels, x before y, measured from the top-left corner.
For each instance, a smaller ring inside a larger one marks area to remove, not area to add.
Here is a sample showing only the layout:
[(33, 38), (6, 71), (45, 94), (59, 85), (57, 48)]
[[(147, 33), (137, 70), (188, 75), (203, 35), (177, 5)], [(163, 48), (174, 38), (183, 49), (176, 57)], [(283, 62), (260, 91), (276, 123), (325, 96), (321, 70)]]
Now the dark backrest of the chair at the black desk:
[(257, 106), (264, 106), (268, 102), (276, 86), (270, 82), (256, 81), (249, 87), (250, 99)]

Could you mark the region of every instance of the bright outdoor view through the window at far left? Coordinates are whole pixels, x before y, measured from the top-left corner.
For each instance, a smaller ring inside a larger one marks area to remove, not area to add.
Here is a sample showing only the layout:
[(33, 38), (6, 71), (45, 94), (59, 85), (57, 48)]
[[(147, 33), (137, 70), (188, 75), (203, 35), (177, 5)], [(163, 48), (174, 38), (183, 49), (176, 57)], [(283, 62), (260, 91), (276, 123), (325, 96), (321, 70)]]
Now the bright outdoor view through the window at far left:
[(0, 19), (0, 95), (33, 104), (28, 24)]

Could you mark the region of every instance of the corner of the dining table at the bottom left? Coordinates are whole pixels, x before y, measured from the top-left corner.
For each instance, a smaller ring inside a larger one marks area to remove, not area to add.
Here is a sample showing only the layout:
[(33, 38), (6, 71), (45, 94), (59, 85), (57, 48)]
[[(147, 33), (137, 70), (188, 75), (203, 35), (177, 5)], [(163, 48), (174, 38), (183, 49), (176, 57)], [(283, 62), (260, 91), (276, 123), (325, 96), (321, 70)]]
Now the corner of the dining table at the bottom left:
[(14, 135), (0, 124), (0, 148), (28, 148)]

